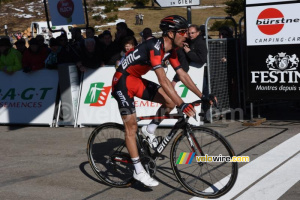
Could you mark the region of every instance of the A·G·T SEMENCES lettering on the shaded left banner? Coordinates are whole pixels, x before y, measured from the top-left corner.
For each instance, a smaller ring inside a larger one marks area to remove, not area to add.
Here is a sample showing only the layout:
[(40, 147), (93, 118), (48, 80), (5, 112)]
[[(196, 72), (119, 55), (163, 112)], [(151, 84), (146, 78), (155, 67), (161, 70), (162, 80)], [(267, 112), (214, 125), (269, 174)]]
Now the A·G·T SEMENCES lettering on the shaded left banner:
[(0, 88), (0, 108), (41, 108), (53, 88)]

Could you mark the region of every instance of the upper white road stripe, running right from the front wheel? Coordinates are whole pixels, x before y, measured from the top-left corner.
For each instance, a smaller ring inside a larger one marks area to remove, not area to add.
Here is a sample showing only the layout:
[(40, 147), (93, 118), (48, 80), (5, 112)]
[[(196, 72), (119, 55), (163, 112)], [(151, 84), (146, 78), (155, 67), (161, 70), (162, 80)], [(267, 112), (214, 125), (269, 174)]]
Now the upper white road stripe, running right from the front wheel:
[[(261, 155), (249, 164), (239, 168), (239, 175), (233, 188), (224, 196), (221, 200), (232, 199), (240, 192), (245, 190), (255, 181), (259, 180), (265, 174), (272, 171), (279, 166), (282, 162), (296, 154), (300, 150), (300, 133), (294, 137), (286, 140), (275, 148), (271, 149), (267, 153)], [(250, 158), (251, 159), (251, 158)], [(299, 169), (299, 168), (298, 168)], [(222, 182), (222, 180), (220, 181)], [(215, 185), (218, 185), (216, 183)], [(272, 191), (269, 191), (272, 192)], [(191, 200), (201, 200), (204, 198), (193, 197)]]

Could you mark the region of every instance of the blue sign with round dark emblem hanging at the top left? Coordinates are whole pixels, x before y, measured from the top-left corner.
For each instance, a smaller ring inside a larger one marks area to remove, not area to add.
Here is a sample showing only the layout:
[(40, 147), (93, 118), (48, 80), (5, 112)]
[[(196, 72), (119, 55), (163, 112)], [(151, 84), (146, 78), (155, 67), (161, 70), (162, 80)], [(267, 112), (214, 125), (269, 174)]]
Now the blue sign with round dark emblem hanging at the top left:
[(85, 24), (82, 0), (49, 0), (52, 26)]

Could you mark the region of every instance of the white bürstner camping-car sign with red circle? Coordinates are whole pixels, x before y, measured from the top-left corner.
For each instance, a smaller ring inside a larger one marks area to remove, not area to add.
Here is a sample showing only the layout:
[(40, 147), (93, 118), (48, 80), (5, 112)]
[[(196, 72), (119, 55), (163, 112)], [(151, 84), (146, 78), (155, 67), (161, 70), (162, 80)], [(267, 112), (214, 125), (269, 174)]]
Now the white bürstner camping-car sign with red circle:
[(246, 8), (247, 46), (300, 44), (300, 3)]

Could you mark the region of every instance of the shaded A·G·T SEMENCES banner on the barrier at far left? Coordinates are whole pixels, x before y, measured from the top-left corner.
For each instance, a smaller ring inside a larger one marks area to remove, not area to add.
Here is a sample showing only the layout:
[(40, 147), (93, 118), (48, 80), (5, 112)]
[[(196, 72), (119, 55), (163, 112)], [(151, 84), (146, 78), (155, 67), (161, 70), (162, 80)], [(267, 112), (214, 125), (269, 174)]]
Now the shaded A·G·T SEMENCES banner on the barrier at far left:
[(56, 70), (0, 72), (0, 123), (52, 125), (58, 87)]

